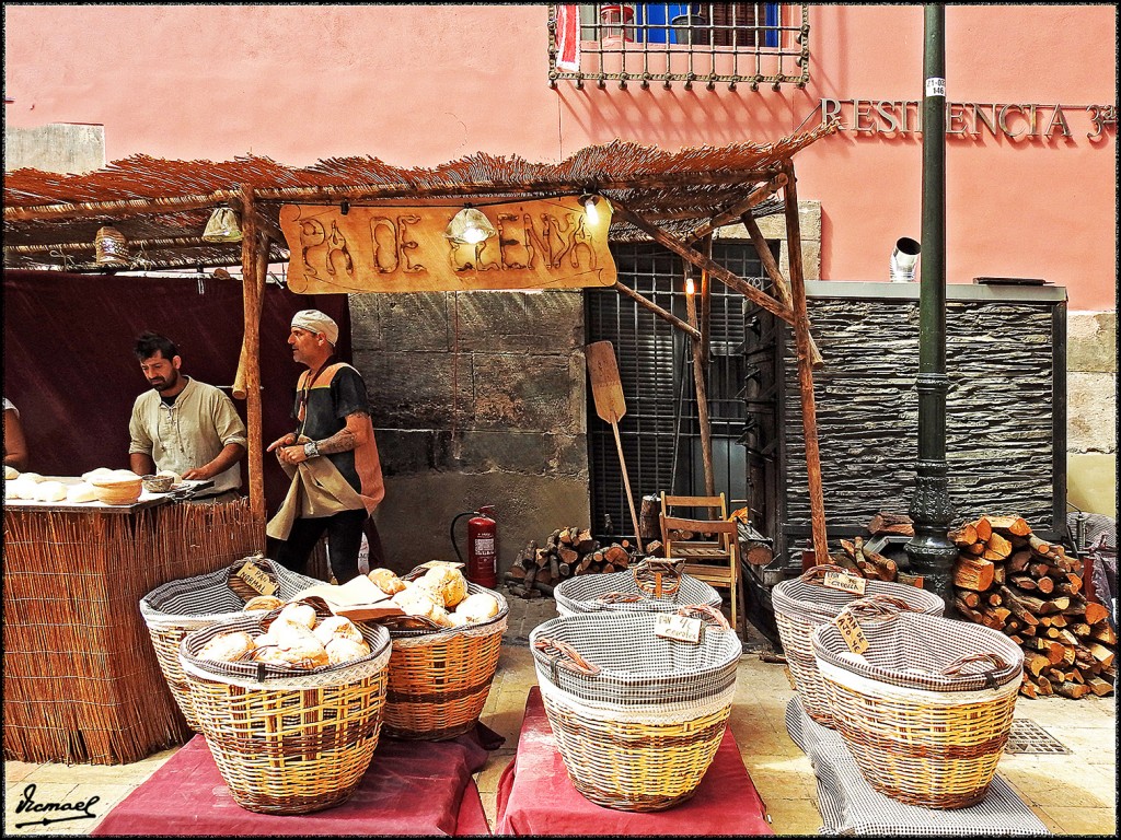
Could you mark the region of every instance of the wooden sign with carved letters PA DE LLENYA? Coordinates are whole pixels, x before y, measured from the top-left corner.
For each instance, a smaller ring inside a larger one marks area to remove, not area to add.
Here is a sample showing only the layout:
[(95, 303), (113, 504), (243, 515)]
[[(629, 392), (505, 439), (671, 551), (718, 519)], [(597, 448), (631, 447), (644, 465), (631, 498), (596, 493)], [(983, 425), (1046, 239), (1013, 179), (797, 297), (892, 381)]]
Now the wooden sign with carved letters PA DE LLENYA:
[(576, 196), (476, 207), (498, 232), (480, 242), (445, 236), (454, 206), (286, 204), (288, 288), (299, 295), (365, 291), (572, 289), (613, 286), (611, 206), (589, 221)]

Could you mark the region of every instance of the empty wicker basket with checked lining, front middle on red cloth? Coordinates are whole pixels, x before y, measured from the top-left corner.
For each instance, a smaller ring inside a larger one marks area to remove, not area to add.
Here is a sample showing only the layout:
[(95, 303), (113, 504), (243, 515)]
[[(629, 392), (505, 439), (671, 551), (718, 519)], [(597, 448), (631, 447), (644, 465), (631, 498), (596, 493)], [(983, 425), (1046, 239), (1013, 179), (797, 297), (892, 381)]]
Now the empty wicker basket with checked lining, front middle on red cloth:
[(707, 606), (697, 644), (655, 635), (654, 613), (553, 618), (530, 633), (545, 713), (576, 790), (620, 811), (688, 800), (724, 736), (742, 645)]

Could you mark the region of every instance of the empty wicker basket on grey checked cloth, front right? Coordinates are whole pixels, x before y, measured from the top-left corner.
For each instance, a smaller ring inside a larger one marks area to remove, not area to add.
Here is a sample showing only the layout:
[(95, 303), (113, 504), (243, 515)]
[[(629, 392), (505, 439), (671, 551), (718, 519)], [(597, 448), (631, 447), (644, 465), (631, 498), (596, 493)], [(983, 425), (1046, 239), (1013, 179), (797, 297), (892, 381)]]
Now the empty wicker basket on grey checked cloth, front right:
[(868, 622), (856, 656), (834, 624), (813, 633), (836, 730), (872, 787), (909, 805), (984, 799), (1008, 741), (1023, 652), (981, 625), (899, 612)]

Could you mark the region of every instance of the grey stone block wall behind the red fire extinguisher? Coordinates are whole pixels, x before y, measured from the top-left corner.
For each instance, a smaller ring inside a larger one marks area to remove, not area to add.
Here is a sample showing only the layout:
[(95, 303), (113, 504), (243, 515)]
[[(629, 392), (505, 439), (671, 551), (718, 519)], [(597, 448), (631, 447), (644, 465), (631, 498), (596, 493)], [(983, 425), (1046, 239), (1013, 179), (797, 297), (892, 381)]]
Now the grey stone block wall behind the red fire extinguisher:
[[(374, 516), (392, 568), (454, 560), (453, 517), (484, 504), (495, 508), (500, 575), (530, 540), (590, 524), (580, 290), (350, 302), (386, 477)], [(465, 533), (461, 521), (464, 559)]]

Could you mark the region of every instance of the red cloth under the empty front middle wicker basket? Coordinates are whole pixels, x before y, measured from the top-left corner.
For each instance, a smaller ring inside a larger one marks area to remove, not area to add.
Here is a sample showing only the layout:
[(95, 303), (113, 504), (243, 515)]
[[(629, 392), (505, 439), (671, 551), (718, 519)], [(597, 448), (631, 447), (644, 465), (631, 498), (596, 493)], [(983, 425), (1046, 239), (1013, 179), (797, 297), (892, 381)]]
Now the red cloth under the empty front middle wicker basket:
[(495, 834), (773, 834), (732, 730), (696, 793), (666, 811), (634, 813), (589, 802), (573, 785), (545, 716), (540, 689), (529, 690), (518, 753), (498, 788)]

